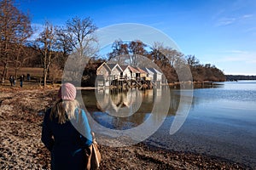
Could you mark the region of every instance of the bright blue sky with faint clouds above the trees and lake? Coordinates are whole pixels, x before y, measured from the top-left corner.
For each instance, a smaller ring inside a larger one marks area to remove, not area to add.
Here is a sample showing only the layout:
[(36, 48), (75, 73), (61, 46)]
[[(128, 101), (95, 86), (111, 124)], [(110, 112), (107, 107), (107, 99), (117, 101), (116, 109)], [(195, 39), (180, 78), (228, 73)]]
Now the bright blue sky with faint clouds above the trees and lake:
[(152, 26), (171, 37), (183, 54), (225, 74), (256, 75), (255, 0), (68, 1), (17, 0), (33, 26), (64, 25), (90, 17), (98, 28), (122, 23)]

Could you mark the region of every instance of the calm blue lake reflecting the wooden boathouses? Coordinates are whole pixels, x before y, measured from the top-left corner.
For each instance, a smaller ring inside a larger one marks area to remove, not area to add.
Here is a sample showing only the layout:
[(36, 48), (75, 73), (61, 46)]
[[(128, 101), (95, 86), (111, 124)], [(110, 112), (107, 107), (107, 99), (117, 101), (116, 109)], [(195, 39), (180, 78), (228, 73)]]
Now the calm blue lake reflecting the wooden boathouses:
[(96, 133), (256, 168), (256, 81), (216, 82), (193, 90), (96, 89), (82, 94)]

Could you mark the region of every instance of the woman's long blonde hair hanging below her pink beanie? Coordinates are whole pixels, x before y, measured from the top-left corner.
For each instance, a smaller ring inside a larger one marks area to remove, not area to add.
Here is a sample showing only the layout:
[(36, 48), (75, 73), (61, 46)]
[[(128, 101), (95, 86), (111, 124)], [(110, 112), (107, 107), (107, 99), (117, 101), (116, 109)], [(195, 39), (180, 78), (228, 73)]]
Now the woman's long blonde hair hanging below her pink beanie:
[(74, 112), (79, 108), (79, 102), (74, 100), (60, 99), (52, 107), (49, 118), (52, 121), (54, 118), (58, 119), (58, 123), (65, 123), (68, 120), (75, 118)]

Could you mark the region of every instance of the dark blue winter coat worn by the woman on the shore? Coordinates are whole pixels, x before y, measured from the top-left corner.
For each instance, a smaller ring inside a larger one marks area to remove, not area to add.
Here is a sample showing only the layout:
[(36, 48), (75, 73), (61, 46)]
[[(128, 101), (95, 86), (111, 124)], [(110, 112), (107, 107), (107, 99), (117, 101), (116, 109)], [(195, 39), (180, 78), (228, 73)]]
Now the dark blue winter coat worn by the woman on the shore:
[[(42, 142), (51, 153), (51, 169), (85, 169), (84, 148), (92, 144), (92, 136), (84, 110), (77, 109), (76, 119), (63, 124), (57, 118), (50, 120), (49, 113), (50, 109), (44, 116)], [(76, 123), (79, 131), (73, 126)]]

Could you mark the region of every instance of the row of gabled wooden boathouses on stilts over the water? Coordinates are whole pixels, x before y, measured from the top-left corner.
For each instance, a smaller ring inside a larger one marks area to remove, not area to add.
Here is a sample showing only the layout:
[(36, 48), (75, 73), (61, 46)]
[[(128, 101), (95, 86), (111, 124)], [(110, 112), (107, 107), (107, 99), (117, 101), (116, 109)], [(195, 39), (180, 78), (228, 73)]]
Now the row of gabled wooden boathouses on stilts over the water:
[(96, 86), (103, 88), (153, 88), (162, 82), (162, 73), (155, 68), (105, 62), (97, 68), (96, 76)]

